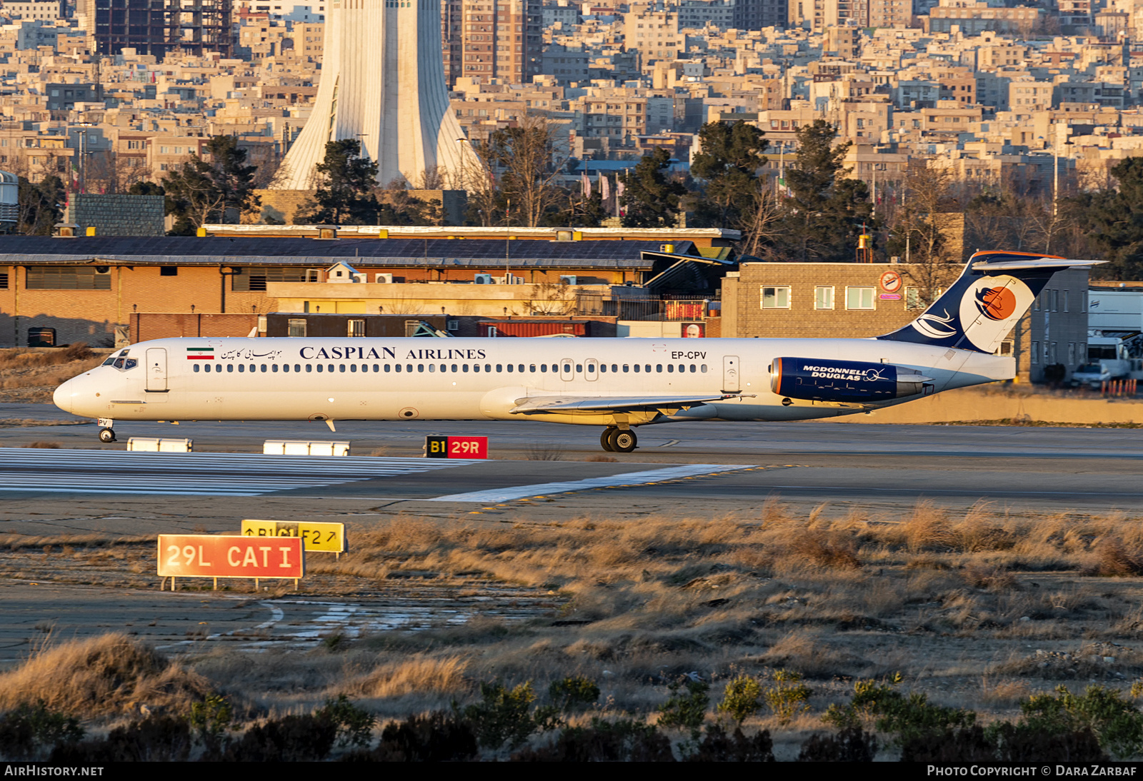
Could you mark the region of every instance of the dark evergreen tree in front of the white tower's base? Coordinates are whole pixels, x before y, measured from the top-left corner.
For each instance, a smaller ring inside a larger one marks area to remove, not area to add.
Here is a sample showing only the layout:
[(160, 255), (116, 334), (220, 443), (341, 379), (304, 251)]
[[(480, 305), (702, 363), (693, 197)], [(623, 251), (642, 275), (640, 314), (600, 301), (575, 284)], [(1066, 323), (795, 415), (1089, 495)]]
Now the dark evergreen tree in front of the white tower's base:
[(326, 156), (315, 167), (321, 185), (313, 200), (298, 209), (295, 223), (319, 225), (379, 225), (377, 163), (361, 155), (361, 143), (343, 138), (326, 144)]

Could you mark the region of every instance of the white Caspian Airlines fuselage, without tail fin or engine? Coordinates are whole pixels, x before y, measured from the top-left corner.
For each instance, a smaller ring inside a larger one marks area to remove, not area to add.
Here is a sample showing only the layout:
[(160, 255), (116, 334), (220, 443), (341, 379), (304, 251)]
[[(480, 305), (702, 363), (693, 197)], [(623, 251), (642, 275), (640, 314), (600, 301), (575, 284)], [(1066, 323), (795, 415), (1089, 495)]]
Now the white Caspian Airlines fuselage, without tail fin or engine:
[[(670, 420), (800, 420), (876, 404), (783, 398), (769, 368), (783, 356), (889, 363), (935, 389), (1014, 376), (1010, 357), (877, 339), (191, 338), (130, 345), (67, 380), (58, 406), (119, 420), (537, 419), (613, 425), (610, 412), (512, 412), (542, 396), (740, 393), (631, 425)], [(209, 367), (209, 371), (208, 371)], [(570, 368), (570, 371), (568, 371)], [(919, 396), (916, 396), (919, 397)]]

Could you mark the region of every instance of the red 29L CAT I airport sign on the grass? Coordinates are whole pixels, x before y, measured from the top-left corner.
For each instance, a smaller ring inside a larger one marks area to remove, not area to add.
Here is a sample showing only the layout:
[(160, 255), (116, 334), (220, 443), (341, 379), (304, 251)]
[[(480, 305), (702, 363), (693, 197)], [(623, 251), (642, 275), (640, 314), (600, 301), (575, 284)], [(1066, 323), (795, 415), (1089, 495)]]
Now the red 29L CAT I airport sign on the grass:
[(160, 578), (301, 578), (301, 537), (159, 534)]

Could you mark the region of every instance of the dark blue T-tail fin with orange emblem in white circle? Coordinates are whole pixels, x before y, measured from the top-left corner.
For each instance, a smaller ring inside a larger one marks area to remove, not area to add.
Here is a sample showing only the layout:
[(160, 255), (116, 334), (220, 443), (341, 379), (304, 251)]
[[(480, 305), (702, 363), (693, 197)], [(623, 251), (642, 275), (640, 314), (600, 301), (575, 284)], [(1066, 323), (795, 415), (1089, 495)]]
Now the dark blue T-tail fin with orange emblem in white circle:
[(994, 353), (1053, 274), (1101, 263), (1030, 252), (975, 252), (960, 277), (922, 315), (877, 338)]

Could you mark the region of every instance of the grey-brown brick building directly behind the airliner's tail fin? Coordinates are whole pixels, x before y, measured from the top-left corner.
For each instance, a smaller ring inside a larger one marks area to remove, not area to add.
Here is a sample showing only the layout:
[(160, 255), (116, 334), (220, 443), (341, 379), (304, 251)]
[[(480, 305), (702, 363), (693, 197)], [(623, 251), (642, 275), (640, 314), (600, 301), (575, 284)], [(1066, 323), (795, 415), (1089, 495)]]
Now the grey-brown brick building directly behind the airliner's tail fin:
[[(904, 279), (886, 292), (881, 275)], [(951, 266), (949, 282), (959, 266)], [(722, 280), (722, 336), (738, 338), (871, 338), (919, 315), (920, 269), (906, 264), (744, 263)], [(1087, 271), (1056, 274), (1001, 345), (1023, 381), (1044, 379), (1062, 363), (1069, 373), (1087, 359)]]

